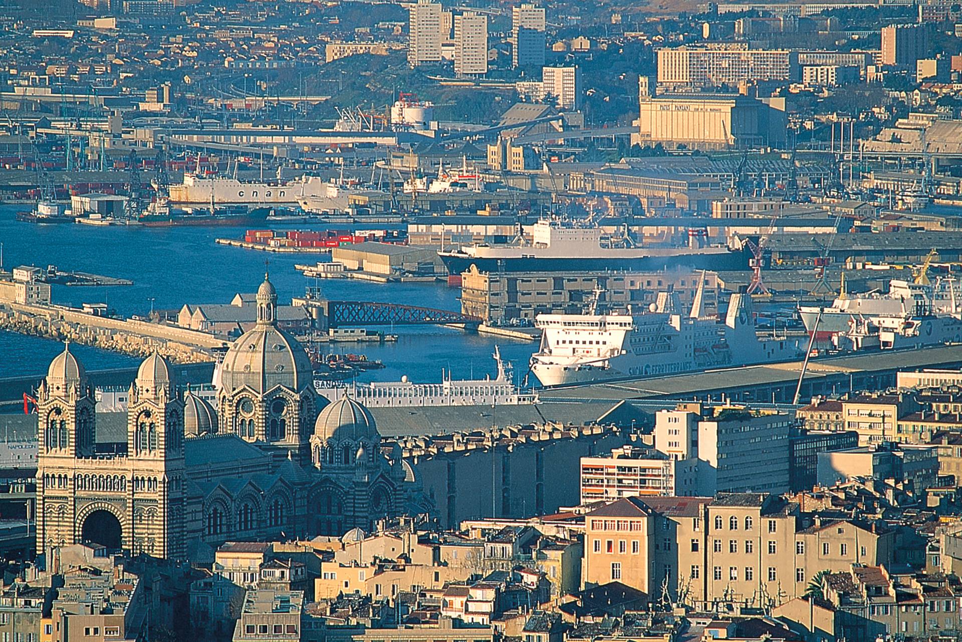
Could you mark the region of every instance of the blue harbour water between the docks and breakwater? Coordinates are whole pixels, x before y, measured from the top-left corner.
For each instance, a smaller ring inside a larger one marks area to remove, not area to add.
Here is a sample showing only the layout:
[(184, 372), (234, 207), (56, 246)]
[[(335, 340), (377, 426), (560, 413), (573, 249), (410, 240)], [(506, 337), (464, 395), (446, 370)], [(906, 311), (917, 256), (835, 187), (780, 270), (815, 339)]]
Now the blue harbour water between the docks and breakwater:
[[(253, 292), (264, 279), (265, 260), (270, 280), (283, 303), (319, 285), (323, 296), (335, 300), (378, 301), (459, 310), (460, 289), (444, 284), (374, 284), (353, 280), (307, 279), (295, 263), (313, 262), (323, 255), (277, 255), (215, 244), (217, 237), (241, 238), (238, 227), (171, 227), (35, 225), (14, 219), (22, 206), (0, 206), (0, 243), (3, 265), (57, 265), (63, 270), (91, 272), (130, 279), (128, 286), (55, 285), (56, 303), (79, 306), (107, 303), (123, 315), (157, 309), (180, 309), (184, 304), (227, 303), (238, 292)], [(307, 228), (309, 226), (298, 226)], [(343, 226), (332, 226), (343, 227)], [(153, 299), (153, 302), (151, 302)], [(536, 344), (468, 334), (433, 326), (379, 328), (399, 335), (395, 343), (333, 344), (333, 352), (362, 352), (387, 367), (368, 371), (359, 381), (441, 381), (442, 369), (455, 379), (494, 374), (494, 344), (516, 365), (519, 376), (527, 369)], [(61, 349), (56, 341), (0, 333), (0, 377), (41, 374)], [(132, 359), (102, 350), (78, 354), (88, 369), (109, 368)]]

